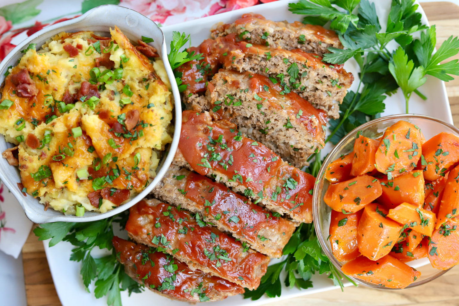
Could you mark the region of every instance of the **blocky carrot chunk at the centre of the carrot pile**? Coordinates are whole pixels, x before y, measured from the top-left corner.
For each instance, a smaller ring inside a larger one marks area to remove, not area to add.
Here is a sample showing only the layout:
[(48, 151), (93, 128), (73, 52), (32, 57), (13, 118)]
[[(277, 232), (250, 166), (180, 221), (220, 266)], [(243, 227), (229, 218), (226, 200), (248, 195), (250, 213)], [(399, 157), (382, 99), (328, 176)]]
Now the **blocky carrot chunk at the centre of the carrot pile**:
[(403, 202), (419, 207), (424, 204), (424, 177), (420, 170), (402, 174), (391, 181), (382, 178), (381, 185), (378, 202), (386, 207), (394, 208)]

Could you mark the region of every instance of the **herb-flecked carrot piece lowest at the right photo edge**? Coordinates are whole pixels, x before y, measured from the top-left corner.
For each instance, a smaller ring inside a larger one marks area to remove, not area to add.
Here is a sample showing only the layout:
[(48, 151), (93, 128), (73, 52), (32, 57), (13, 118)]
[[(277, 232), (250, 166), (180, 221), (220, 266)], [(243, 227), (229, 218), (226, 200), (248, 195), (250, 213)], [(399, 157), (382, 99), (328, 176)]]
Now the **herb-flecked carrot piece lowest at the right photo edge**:
[(453, 218), (433, 231), (429, 243), (429, 261), (432, 267), (446, 270), (459, 263), (459, 218)]

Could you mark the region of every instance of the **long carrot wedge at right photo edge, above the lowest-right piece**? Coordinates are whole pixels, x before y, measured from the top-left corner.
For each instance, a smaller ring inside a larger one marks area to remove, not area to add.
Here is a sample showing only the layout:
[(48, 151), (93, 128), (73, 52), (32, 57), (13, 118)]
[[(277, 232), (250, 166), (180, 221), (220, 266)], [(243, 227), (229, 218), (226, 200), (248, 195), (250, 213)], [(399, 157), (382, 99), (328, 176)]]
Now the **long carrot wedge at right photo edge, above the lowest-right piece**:
[(442, 201), (438, 208), (436, 228), (442, 223), (459, 215), (459, 166), (454, 167), (448, 174), (446, 185), (443, 189)]

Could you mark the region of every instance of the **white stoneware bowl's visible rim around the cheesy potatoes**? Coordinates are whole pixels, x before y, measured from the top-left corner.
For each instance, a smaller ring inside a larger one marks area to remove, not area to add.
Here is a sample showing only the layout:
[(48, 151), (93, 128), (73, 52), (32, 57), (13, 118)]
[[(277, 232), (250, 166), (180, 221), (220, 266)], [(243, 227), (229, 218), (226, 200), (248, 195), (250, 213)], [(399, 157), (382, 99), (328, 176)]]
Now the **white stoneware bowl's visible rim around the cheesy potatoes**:
[[(18, 59), (22, 56), (20, 51), (27, 48), (29, 44), (34, 43), (39, 47), (43, 45), (46, 40), (60, 32), (91, 30), (96, 33), (108, 33), (109, 28), (113, 28), (115, 25), (118, 26), (118, 28), (120, 28), (120, 30), (133, 41), (140, 39), (142, 35), (154, 39), (154, 42), (151, 42), (149, 45), (154, 46), (159, 51), (158, 53), (160, 58), (164, 61), (164, 67), (166, 68), (168, 78), (171, 81), (170, 83), (172, 86), (172, 93), (174, 95), (175, 101), (174, 122), (171, 122), (174, 123), (175, 131), (172, 143), (166, 147), (166, 151), (168, 151), (168, 153), (165, 154), (165, 156), (163, 156), (162, 160), (160, 161), (157, 169), (157, 176), (146, 187), (146, 189), (132, 198), (129, 202), (105, 213), (85, 211), (83, 217), (65, 216), (62, 212), (55, 211), (51, 208), (45, 211), (44, 205), (39, 203), (38, 199), (35, 199), (31, 195), (22, 195), (21, 191), (17, 187), (17, 183), (21, 182), (19, 169), (17, 167), (10, 166), (5, 158), (0, 158), (0, 179), (19, 201), (19, 204), (22, 206), (22, 209), (24, 210), (27, 217), (34, 223), (49, 223), (57, 221), (88, 222), (105, 219), (116, 215), (133, 206), (142, 200), (146, 195), (148, 195), (151, 190), (159, 183), (159, 181), (166, 173), (168, 167), (172, 163), (175, 151), (179, 145), (180, 129), (182, 123), (179, 89), (174, 81), (174, 73), (172, 72), (172, 69), (169, 65), (164, 34), (155, 22), (151, 21), (149, 18), (136, 11), (123, 6), (99, 6), (90, 11), (87, 11), (80, 17), (56, 23), (38, 31), (37, 33), (34, 33), (22, 41), (22, 43), (17, 45), (17, 47), (14, 48), (3, 61), (1, 61), (0, 84), (4, 82), (4, 73), (8, 67), (17, 65)], [(6, 143), (5, 137), (1, 135), (0, 151), (3, 152), (11, 146), (12, 144)]]

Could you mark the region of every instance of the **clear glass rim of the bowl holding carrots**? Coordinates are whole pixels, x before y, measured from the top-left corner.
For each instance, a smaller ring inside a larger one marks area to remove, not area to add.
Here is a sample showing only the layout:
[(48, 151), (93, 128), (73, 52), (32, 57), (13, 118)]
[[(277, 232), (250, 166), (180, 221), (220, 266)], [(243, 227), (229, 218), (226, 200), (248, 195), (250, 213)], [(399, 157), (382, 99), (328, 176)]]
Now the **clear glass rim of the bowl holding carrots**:
[[(430, 116), (426, 116), (426, 115), (419, 115), (419, 114), (397, 114), (397, 115), (385, 116), (385, 117), (377, 118), (377, 119), (371, 120), (369, 122), (366, 122), (366, 123), (362, 124), (361, 126), (359, 126), (357, 128), (354, 128), (351, 132), (349, 132), (346, 136), (344, 136), (333, 147), (333, 149), (330, 151), (328, 156), (325, 158), (324, 163), (322, 164), (322, 167), (319, 170), (319, 173), (317, 175), (316, 182), (315, 182), (315, 185), (314, 185), (314, 190), (313, 190), (314, 229), (316, 231), (317, 239), (319, 239), (319, 243), (320, 243), (320, 246), (322, 247), (322, 250), (324, 250), (325, 255), (330, 259), (330, 261), (333, 263), (333, 265), (339, 271), (341, 271), (342, 263), (340, 261), (338, 261), (333, 256), (333, 253), (331, 253), (330, 245), (324, 239), (324, 235), (322, 234), (322, 229), (321, 229), (321, 226), (320, 226), (321, 224), (319, 222), (319, 220), (321, 220), (321, 217), (320, 217), (320, 206), (321, 205), (319, 203), (322, 202), (322, 198), (320, 197), (320, 195), (322, 195), (322, 192), (321, 192), (322, 190), (321, 189), (323, 188), (323, 184), (321, 184), (321, 182), (323, 182), (325, 180), (325, 178), (323, 178), (323, 176), (325, 174), (325, 171), (326, 171), (328, 165), (330, 164), (330, 162), (332, 162), (334, 160), (334, 156), (336, 156), (337, 154), (341, 154), (341, 153), (342, 154), (349, 153), (349, 151), (344, 152), (343, 151), (343, 147), (346, 144), (348, 144), (348, 142), (350, 140), (355, 139), (355, 135), (357, 134), (358, 131), (365, 131), (365, 130), (368, 130), (369, 128), (371, 128), (371, 127), (373, 127), (375, 125), (383, 124), (383, 123), (391, 121), (391, 120), (397, 120), (397, 121), (399, 121), (399, 120), (408, 120), (409, 121), (409, 119), (424, 119), (424, 120), (428, 120), (428, 121), (431, 121), (431, 122), (439, 123), (439, 124), (443, 125), (444, 127), (449, 128), (452, 132), (456, 133), (459, 136), (459, 129), (458, 128), (456, 128), (455, 126), (453, 126), (452, 124), (450, 124), (448, 122), (442, 121), (442, 120), (434, 118), (434, 117), (430, 117)], [(420, 127), (420, 128), (422, 129), (422, 127)], [(326, 204), (323, 204), (323, 205), (326, 205)], [(315, 222), (316, 220), (318, 222)], [(410, 284), (409, 286), (405, 287), (404, 289), (413, 288), (413, 287), (428, 283), (428, 282), (430, 282), (430, 281), (442, 276), (444, 273), (448, 272), (448, 270), (438, 270), (438, 272), (435, 273), (434, 275), (432, 275), (431, 277), (428, 277), (428, 278), (425, 278), (425, 279), (420, 279), (419, 281), (416, 281), (416, 282)], [(382, 287), (382, 286), (379, 286), (378, 284), (372, 284), (372, 283), (369, 283), (369, 282), (365, 282), (364, 280), (361, 280), (361, 279), (358, 279), (358, 278), (353, 278), (351, 276), (347, 276), (347, 277), (350, 278), (351, 280), (353, 280), (355, 283), (362, 284), (362, 285), (365, 285), (367, 287), (371, 287), (371, 288), (375, 288), (375, 289), (382, 289), (382, 290), (399, 290), (399, 288)]]

